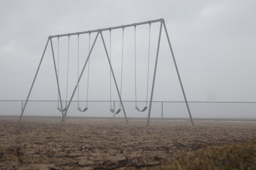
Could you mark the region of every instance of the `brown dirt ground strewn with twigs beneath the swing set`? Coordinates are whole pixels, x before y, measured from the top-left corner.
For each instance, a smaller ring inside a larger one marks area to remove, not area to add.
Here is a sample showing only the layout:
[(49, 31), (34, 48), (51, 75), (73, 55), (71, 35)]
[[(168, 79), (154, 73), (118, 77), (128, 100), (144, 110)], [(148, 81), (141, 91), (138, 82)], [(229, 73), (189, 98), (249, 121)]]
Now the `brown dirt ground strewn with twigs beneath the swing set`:
[(255, 139), (255, 121), (0, 117), (0, 170), (147, 169)]

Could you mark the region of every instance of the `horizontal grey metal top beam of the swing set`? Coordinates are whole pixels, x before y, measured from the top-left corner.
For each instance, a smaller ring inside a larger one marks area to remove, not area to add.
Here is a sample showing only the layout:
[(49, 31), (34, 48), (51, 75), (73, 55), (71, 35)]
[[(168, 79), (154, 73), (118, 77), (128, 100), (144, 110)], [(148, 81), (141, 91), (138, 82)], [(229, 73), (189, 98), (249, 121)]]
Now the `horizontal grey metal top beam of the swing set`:
[(69, 33), (69, 34), (60, 34), (60, 35), (55, 35), (55, 36), (49, 36), (48, 38), (50, 39), (50, 38), (55, 38), (55, 37), (65, 37), (65, 36), (88, 34), (88, 33), (90, 34), (92, 32), (106, 31), (106, 30), (126, 28), (126, 27), (132, 27), (132, 26), (136, 27), (137, 25), (151, 24), (151, 23), (156, 23), (156, 22), (164, 22), (164, 18), (155, 19), (155, 20), (151, 20), (151, 21), (140, 22), (140, 23), (128, 24), (128, 25), (121, 25), (121, 26), (117, 26), (117, 27), (109, 27), (109, 28), (95, 29), (95, 30), (90, 30), (90, 31), (74, 32), (74, 33)]

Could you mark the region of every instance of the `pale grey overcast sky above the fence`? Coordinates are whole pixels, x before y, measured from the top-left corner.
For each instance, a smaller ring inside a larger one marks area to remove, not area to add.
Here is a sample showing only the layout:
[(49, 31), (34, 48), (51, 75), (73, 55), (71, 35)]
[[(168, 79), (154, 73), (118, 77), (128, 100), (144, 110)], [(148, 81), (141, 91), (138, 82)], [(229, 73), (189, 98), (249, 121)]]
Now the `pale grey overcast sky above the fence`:
[[(255, 8), (254, 0), (0, 1), (0, 100), (26, 99), (48, 36), (164, 18), (188, 101), (255, 102)], [(149, 96), (160, 23), (151, 27)], [(146, 100), (149, 25), (136, 29), (137, 95), (138, 100)], [(120, 87), (122, 30), (113, 30), (112, 35), (113, 69)], [(95, 36), (91, 35), (91, 44)], [(109, 50), (109, 31), (103, 36)], [(81, 71), (88, 34), (80, 37)], [(56, 38), (53, 43), (56, 58)], [(60, 38), (62, 99), (66, 98), (67, 44), (67, 37)], [(77, 81), (77, 36), (70, 37), (69, 60), (68, 99)], [(123, 67), (122, 99), (135, 100), (133, 27), (125, 29)], [(81, 99), (86, 98), (86, 76), (85, 71)], [(118, 99), (114, 83), (112, 92)], [(30, 99), (57, 100), (50, 44)], [(100, 37), (90, 60), (89, 100), (109, 100), (109, 66)], [(184, 100), (164, 31), (153, 100)]]

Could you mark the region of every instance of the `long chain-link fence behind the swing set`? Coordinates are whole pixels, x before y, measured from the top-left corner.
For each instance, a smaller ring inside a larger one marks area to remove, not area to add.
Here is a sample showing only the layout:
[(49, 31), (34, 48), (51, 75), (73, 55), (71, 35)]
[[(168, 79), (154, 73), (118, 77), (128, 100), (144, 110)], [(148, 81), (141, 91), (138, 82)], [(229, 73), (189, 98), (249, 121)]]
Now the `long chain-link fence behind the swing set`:
[[(20, 116), (25, 101), (1, 100), (0, 116)], [(147, 118), (148, 109), (138, 112), (135, 109), (135, 101), (123, 101), (126, 116), (128, 118)], [(116, 111), (119, 101), (112, 101), (112, 108)], [(146, 101), (137, 101), (137, 106), (142, 109)], [(193, 118), (216, 119), (256, 119), (256, 102), (188, 102)], [(62, 116), (57, 109), (58, 101), (28, 101), (23, 116)], [(59, 103), (60, 106), (60, 103)], [(62, 102), (63, 108), (66, 101)], [(67, 112), (68, 117), (124, 117), (124, 112), (113, 115), (110, 101), (88, 101), (88, 110), (79, 112), (78, 102), (72, 101)], [(86, 106), (86, 101), (79, 102), (80, 108)], [(149, 102), (148, 102), (149, 106)], [(153, 101), (151, 118), (189, 118), (185, 102)]]

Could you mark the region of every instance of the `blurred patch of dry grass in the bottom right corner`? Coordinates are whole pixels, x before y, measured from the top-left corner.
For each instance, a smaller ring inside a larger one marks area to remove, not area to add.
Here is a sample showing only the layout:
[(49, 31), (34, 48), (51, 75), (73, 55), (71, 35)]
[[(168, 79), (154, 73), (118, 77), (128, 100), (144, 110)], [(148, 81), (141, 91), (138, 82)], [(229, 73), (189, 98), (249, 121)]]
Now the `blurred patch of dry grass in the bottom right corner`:
[(254, 170), (256, 169), (256, 141), (231, 143), (204, 148), (183, 154), (158, 170)]

